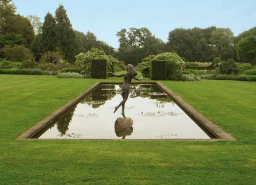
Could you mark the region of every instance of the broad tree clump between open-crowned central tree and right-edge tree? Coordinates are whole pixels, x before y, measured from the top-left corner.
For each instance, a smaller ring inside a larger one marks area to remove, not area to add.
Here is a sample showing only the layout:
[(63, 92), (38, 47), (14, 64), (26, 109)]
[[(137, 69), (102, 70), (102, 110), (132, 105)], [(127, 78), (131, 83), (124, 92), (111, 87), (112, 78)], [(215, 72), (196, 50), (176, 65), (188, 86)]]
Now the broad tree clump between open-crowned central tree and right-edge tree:
[(186, 61), (223, 60), (234, 56), (234, 34), (230, 29), (215, 26), (206, 29), (175, 29), (169, 32), (168, 51), (177, 52)]

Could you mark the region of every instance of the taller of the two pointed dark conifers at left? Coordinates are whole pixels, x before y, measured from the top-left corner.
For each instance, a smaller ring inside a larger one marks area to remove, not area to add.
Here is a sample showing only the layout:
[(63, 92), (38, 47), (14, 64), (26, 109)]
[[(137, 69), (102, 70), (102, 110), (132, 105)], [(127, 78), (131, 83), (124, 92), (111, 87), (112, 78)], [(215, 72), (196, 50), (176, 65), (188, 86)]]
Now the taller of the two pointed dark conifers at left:
[(58, 45), (64, 58), (69, 62), (75, 61), (76, 46), (75, 46), (75, 32), (72, 29), (70, 19), (68, 19), (67, 11), (63, 5), (56, 9), (56, 23), (58, 33)]

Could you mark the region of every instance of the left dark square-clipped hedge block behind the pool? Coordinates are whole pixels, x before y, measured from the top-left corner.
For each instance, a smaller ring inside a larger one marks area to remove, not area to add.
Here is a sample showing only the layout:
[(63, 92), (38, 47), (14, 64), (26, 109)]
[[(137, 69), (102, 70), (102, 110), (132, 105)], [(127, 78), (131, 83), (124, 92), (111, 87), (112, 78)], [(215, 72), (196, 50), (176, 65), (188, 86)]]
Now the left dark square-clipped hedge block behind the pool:
[(92, 60), (91, 76), (94, 79), (106, 79), (108, 77), (108, 63), (106, 59)]

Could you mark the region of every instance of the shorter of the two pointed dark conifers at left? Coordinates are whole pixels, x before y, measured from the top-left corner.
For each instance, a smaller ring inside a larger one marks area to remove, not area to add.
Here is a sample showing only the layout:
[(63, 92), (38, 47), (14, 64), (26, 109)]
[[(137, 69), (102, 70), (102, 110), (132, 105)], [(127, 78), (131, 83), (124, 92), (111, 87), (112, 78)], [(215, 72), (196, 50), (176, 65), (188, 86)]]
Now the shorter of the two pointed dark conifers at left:
[(58, 46), (56, 20), (49, 12), (44, 17), (40, 40), (43, 52), (56, 51)]

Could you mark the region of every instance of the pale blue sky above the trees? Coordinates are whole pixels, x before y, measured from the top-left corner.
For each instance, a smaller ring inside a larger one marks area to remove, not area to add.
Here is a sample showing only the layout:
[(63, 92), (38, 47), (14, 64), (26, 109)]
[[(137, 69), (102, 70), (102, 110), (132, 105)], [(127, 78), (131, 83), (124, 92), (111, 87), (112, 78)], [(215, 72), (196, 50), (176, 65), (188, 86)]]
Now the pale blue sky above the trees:
[(147, 27), (167, 41), (175, 28), (229, 27), (234, 35), (256, 26), (255, 0), (13, 0), (20, 15), (36, 15), (43, 22), (46, 12), (61, 4), (75, 30), (92, 31), (99, 40), (118, 48), (116, 32)]

